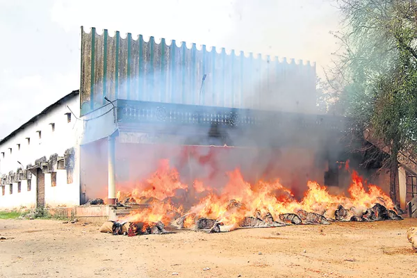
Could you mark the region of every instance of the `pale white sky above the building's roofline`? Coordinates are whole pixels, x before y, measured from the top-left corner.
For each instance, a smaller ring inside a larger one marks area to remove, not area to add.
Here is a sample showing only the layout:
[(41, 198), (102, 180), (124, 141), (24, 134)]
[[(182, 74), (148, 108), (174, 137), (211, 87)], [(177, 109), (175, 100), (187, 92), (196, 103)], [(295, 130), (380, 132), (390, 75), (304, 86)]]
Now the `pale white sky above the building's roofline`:
[(332, 0), (0, 0), (0, 138), (80, 85), (80, 26), (311, 60), (338, 49)]

